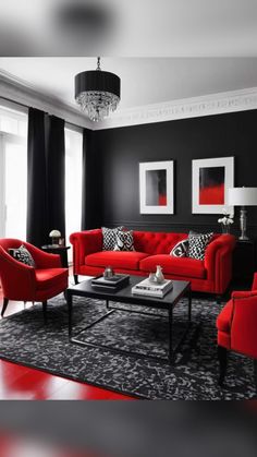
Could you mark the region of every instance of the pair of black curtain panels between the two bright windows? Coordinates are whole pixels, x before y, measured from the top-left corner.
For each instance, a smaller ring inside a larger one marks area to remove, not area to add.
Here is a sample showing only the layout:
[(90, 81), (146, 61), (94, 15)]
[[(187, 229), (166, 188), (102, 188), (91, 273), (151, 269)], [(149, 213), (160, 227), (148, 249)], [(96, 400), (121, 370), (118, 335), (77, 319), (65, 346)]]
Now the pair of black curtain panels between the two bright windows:
[(29, 108), (27, 151), (27, 241), (40, 248), (65, 236), (64, 120)]

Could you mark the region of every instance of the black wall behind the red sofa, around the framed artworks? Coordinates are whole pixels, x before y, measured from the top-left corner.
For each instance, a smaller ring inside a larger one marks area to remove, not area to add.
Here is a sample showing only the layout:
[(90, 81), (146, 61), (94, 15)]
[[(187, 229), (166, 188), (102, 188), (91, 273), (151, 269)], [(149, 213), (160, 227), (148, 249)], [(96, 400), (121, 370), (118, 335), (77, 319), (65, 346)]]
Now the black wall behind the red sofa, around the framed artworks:
[[(192, 214), (192, 160), (197, 158), (234, 156), (234, 185), (257, 187), (257, 110), (95, 131), (93, 136), (88, 155), (94, 167), (87, 171), (95, 209), (87, 228), (123, 224), (160, 231), (219, 231), (219, 215)], [(175, 214), (140, 215), (138, 164), (171, 159)], [(235, 218), (233, 232), (238, 230), (238, 208)], [(257, 233), (257, 207), (248, 208), (248, 223), (249, 232)]]

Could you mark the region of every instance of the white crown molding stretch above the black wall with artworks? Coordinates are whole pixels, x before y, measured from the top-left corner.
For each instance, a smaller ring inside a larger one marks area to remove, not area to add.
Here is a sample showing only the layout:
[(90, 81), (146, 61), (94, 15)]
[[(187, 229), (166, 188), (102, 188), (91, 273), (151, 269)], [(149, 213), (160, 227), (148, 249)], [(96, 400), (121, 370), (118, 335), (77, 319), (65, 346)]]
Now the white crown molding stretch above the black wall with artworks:
[(257, 109), (257, 87), (184, 98), (120, 111), (118, 108), (118, 111), (110, 118), (94, 124), (94, 130), (166, 122), (250, 109)]

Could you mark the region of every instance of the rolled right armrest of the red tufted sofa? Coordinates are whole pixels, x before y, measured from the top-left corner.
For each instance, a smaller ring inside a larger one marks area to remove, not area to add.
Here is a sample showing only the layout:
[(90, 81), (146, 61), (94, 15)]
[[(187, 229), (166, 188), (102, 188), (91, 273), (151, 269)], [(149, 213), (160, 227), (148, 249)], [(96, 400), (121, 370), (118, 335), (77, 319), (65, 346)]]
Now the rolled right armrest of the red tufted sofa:
[(223, 293), (232, 278), (232, 253), (235, 237), (222, 234), (211, 241), (205, 253), (207, 278), (215, 281), (216, 293)]

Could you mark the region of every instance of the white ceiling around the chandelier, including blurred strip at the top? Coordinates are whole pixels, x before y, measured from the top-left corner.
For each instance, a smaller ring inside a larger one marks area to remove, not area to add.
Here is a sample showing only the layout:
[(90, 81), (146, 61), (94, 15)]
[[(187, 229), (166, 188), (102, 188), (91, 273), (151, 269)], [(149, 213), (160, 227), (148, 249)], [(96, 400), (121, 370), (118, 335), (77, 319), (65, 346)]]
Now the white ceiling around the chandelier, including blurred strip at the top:
[(99, 55), (120, 109), (256, 87), (257, 0), (0, 1), (0, 71), (25, 85), (75, 106)]

